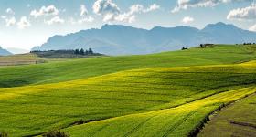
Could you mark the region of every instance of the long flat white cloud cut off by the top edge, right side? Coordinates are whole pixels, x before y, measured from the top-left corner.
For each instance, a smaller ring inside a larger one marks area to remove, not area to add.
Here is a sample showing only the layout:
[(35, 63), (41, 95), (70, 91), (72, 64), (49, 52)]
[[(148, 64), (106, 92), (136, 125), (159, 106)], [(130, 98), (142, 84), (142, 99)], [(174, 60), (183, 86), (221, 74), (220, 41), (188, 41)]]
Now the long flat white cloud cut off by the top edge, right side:
[(180, 10), (186, 10), (190, 7), (212, 7), (219, 4), (231, 3), (231, 2), (245, 2), (251, 0), (177, 0), (176, 7), (172, 10), (172, 13), (176, 13)]

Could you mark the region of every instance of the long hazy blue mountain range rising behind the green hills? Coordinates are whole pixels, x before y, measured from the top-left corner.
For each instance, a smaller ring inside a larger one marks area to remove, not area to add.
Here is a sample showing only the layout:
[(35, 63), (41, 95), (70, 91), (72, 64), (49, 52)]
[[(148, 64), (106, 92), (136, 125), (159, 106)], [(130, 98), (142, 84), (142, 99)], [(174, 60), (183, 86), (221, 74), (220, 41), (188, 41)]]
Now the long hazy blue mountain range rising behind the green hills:
[(151, 30), (131, 26), (105, 25), (101, 29), (81, 30), (66, 36), (50, 37), (32, 50), (89, 48), (107, 55), (146, 54), (201, 43), (236, 44), (255, 42), (256, 33), (224, 23), (195, 27), (154, 27)]

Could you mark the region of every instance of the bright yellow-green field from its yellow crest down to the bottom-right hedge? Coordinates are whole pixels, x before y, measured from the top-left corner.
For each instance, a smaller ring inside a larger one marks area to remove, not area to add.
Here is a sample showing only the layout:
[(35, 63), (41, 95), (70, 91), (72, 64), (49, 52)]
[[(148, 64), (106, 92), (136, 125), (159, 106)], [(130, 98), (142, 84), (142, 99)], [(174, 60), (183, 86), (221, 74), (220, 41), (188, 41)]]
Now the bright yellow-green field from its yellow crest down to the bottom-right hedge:
[(95, 122), (67, 129), (71, 136), (154, 136), (157, 132), (185, 136), (221, 104), (255, 92), (255, 83), (256, 62), (251, 61), (134, 69), (55, 84), (2, 88), (0, 129), (11, 136), (24, 136), (66, 128), (82, 119)]

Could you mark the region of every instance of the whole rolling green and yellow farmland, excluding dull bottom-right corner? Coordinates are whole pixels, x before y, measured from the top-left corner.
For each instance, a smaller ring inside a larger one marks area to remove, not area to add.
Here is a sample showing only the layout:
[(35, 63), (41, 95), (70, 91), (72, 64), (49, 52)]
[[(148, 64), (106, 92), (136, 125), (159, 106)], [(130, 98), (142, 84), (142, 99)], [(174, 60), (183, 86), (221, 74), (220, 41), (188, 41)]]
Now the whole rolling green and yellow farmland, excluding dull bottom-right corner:
[[(256, 46), (191, 48), (0, 68), (0, 131), (187, 136), (256, 91)], [(91, 121), (73, 125), (76, 121)]]

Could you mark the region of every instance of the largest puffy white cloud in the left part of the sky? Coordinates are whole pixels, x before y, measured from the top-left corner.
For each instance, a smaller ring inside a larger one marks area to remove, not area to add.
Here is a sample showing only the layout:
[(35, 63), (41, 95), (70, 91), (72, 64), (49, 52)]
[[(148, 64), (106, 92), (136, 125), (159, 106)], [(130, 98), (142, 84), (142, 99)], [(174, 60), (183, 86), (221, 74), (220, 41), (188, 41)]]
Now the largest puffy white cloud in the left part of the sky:
[(30, 16), (57, 16), (59, 10), (54, 5), (42, 6), (38, 11), (36, 9), (30, 12)]

